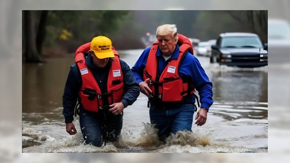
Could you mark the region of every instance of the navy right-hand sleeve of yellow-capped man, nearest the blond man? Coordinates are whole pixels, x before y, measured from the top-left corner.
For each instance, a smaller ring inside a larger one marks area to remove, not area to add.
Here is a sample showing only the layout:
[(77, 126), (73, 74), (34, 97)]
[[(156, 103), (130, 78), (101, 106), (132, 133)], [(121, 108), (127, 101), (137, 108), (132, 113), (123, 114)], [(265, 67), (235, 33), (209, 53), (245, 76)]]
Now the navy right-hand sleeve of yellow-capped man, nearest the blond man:
[(125, 87), (125, 94), (121, 102), (126, 108), (127, 106), (132, 105), (137, 100), (137, 97), (140, 94), (140, 90), (139, 84), (133, 76), (133, 73), (128, 64), (123, 60), (120, 60), (120, 64), (122, 67), (123, 81)]

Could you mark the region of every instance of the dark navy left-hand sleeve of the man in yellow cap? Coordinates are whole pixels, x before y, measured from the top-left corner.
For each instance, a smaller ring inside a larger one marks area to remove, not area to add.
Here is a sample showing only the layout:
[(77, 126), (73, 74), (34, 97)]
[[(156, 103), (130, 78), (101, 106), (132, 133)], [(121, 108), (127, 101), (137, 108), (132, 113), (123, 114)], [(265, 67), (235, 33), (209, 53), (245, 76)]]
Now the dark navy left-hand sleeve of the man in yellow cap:
[(66, 79), (64, 94), (62, 96), (63, 110), (62, 114), (65, 118), (65, 123), (73, 122), (73, 114), (75, 105), (78, 99), (78, 93), (82, 86), (82, 79), (77, 65), (71, 66), (69, 75)]

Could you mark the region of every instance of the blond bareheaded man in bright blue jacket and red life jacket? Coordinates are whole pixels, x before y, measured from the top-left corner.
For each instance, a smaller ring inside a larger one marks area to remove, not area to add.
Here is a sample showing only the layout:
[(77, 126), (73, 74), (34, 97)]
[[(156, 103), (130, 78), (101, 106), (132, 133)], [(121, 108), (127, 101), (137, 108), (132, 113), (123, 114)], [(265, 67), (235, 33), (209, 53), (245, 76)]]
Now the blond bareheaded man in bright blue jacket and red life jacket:
[(165, 140), (170, 133), (192, 131), (193, 115), (197, 111), (195, 89), (201, 102), (195, 124), (205, 124), (213, 93), (212, 83), (193, 56), (192, 43), (177, 34), (174, 24), (159, 26), (156, 38), (132, 71), (140, 91), (149, 99), (150, 121), (158, 128), (159, 139)]

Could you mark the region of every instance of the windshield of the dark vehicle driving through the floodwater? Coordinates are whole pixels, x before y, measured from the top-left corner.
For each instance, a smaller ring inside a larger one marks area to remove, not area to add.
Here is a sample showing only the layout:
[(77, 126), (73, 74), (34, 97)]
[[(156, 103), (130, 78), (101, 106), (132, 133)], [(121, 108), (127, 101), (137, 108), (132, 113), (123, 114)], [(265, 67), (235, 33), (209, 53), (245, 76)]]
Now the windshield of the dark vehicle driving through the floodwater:
[(222, 48), (262, 48), (262, 42), (256, 36), (224, 37), (221, 41)]

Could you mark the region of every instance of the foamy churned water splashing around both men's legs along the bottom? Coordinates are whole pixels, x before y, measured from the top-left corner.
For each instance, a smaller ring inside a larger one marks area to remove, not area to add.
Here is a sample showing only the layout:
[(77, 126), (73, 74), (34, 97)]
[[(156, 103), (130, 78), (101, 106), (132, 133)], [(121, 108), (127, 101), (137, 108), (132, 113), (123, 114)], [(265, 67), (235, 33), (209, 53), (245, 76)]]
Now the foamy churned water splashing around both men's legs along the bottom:
[[(78, 126), (76, 126), (78, 128)], [(107, 143), (105, 146), (96, 147), (84, 144), (82, 133), (78, 132), (73, 136), (64, 137), (53, 142), (44, 141), (43, 144), (35, 144), (28, 148), (23, 148), (23, 152), (46, 152), (46, 153), (168, 153), (168, 152), (190, 152), (190, 153), (244, 153), (251, 152), (250, 148), (242, 146), (231, 146), (226, 141), (214, 141), (214, 136), (210, 134), (202, 135), (198, 131), (179, 131), (170, 135), (166, 142), (160, 142), (157, 136), (157, 129), (150, 123), (143, 123), (143, 129), (139, 137), (132, 137), (131, 131), (122, 130), (116, 142)], [(24, 128), (24, 133), (28, 135), (44, 135), (44, 133)], [(256, 137), (254, 135), (253, 137)], [(266, 137), (266, 135), (261, 135)]]

